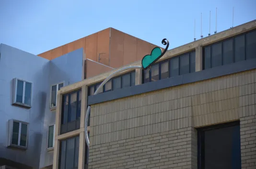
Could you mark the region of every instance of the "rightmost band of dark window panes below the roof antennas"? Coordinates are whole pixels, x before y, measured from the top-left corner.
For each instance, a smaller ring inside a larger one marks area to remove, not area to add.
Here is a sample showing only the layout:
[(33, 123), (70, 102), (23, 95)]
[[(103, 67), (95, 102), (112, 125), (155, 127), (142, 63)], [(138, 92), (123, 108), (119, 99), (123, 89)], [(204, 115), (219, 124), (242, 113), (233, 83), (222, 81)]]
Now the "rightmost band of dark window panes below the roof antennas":
[(204, 69), (256, 58), (256, 31), (204, 47)]

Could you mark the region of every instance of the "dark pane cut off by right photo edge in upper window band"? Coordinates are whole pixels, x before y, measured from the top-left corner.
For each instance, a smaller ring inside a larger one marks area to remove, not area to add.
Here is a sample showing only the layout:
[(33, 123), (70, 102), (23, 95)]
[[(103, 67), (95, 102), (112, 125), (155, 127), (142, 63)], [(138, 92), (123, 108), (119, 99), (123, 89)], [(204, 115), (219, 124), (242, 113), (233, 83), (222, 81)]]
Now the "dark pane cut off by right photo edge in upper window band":
[(256, 58), (256, 31), (246, 34), (246, 59)]

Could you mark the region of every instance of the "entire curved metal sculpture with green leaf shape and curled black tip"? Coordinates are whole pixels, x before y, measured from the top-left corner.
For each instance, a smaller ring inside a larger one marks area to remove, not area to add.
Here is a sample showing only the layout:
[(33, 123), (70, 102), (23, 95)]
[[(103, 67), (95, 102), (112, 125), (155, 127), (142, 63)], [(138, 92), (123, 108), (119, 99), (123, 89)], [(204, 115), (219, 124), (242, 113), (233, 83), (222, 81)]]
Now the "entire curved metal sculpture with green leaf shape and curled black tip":
[[(129, 69), (147, 69), (147, 68), (150, 68), (151, 65), (153, 63), (155, 63), (158, 59), (160, 59), (164, 53), (167, 51), (168, 47), (169, 47), (169, 41), (167, 39), (163, 39), (162, 40), (162, 44), (163, 45), (166, 45), (164, 51), (159, 48), (159, 47), (155, 47), (152, 51), (151, 51), (151, 54), (150, 55), (145, 55), (143, 57), (143, 59), (141, 60), (141, 65), (142, 66), (128, 66), (128, 67), (123, 67), (121, 69), (118, 69), (117, 71), (115, 71), (114, 73), (110, 74), (100, 85), (99, 87), (96, 89), (96, 91), (94, 92), (94, 95), (97, 95), (98, 92), (99, 92), (99, 89), (101, 87), (103, 87), (104, 84), (107, 83), (107, 81), (109, 79), (111, 79), (114, 75), (122, 72), (122, 71), (125, 71), (125, 70), (129, 70)], [(88, 117), (89, 117), (89, 113), (90, 113), (90, 110), (91, 110), (91, 106), (88, 106), (87, 107), (87, 111), (86, 111), (86, 115), (85, 115), (85, 124), (84, 124), (84, 131), (86, 132), (85, 134), (85, 141), (86, 141), (86, 144), (89, 148), (89, 137), (88, 137), (88, 132), (87, 132), (87, 124), (88, 124)]]

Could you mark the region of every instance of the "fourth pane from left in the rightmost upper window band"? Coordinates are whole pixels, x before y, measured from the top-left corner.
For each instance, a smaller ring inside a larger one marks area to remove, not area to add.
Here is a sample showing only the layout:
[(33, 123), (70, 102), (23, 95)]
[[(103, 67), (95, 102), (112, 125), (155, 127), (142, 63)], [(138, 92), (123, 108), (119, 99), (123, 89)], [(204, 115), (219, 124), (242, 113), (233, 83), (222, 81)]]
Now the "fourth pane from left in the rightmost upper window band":
[(234, 38), (235, 62), (245, 60), (245, 36), (241, 35)]

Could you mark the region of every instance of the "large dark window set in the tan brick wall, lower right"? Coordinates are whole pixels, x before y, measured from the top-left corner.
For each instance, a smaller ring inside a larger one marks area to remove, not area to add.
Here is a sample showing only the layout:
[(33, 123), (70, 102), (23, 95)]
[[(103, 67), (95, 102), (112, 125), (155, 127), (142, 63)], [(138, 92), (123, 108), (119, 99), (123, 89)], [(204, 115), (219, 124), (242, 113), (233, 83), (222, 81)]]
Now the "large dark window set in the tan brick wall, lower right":
[(198, 128), (198, 169), (241, 169), (239, 122)]

